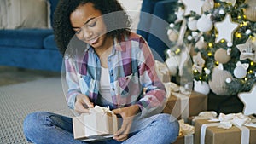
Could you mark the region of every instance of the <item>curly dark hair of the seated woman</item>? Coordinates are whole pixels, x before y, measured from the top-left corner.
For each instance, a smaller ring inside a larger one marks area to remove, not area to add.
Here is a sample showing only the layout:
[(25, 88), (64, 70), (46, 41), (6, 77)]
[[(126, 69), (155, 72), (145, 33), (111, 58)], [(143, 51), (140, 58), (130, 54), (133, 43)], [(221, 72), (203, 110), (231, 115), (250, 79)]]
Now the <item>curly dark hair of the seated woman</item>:
[[(118, 19), (116, 16), (103, 16), (104, 23), (107, 26), (108, 36), (116, 37), (120, 41), (125, 35), (130, 34), (130, 18), (117, 0), (60, 0), (54, 13), (53, 30), (55, 42), (63, 56), (65, 53), (67, 55), (75, 54), (75, 49), (69, 49), (66, 52), (67, 48), (71, 46), (71, 39), (75, 38), (78, 40), (77, 37), (74, 37), (75, 32), (71, 26), (70, 14), (85, 3), (93, 3), (94, 8), (100, 10), (102, 15), (118, 12)], [(84, 46), (86, 45), (82, 41), (79, 42), (78, 40), (77, 42), (83, 43), (82, 45)]]

